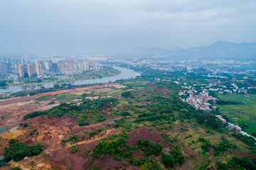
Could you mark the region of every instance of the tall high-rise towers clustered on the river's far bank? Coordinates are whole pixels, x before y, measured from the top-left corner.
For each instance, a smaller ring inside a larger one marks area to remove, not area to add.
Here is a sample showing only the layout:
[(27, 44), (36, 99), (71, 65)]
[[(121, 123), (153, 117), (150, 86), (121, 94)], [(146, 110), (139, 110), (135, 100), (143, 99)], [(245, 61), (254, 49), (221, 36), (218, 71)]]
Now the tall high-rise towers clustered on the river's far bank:
[(82, 71), (95, 69), (97, 67), (96, 60), (60, 60), (53, 62), (52, 60), (36, 60), (36, 69), (34, 64), (19, 64), (19, 77), (33, 77), (33, 75), (42, 74), (81, 74)]

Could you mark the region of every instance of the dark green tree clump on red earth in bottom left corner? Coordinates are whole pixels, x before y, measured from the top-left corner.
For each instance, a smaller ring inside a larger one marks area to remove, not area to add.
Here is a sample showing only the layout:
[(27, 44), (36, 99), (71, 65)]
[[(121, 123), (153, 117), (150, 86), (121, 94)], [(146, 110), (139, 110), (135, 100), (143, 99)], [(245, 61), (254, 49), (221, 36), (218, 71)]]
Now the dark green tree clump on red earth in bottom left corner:
[(14, 159), (15, 162), (20, 161), (24, 157), (32, 157), (41, 154), (43, 151), (41, 145), (26, 145), (25, 143), (18, 142), (17, 140), (10, 140), (9, 147), (4, 148), (4, 161), (9, 162)]

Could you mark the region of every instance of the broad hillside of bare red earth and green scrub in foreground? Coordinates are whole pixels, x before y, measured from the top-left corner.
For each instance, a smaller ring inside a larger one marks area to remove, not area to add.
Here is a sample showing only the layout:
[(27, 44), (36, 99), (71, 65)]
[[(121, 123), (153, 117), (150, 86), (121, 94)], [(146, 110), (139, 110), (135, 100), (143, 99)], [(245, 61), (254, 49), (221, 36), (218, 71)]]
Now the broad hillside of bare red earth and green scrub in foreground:
[(181, 85), (173, 83), (177, 75), (156, 81), (159, 73), (148, 72), (151, 76), (119, 81), (124, 89), (88, 87), (36, 98), (34, 106), (66, 103), (23, 114), (17, 128), (1, 136), (1, 146), (11, 148), (8, 140), (15, 136), (28, 145), (39, 142), (43, 154), (19, 162), (10, 156), (2, 168), (255, 169), (254, 140), (240, 138), (214, 115), (181, 101)]

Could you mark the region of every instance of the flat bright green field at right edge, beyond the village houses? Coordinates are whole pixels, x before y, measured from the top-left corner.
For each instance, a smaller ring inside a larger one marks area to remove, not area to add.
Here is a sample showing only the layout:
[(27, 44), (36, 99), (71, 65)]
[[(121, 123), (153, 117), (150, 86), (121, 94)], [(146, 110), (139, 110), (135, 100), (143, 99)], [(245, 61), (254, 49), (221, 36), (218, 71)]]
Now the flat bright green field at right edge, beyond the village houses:
[[(242, 104), (238, 105), (215, 105), (220, 108), (219, 111), (228, 111), (223, 113), (230, 118), (231, 123), (242, 123), (247, 125), (248, 128), (242, 128), (245, 132), (252, 133), (256, 132), (256, 95), (242, 95), (242, 94), (227, 94), (218, 95), (218, 98), (223, 101), (239, 101)], [(236, 121), (233, 118), (238, 118)]]

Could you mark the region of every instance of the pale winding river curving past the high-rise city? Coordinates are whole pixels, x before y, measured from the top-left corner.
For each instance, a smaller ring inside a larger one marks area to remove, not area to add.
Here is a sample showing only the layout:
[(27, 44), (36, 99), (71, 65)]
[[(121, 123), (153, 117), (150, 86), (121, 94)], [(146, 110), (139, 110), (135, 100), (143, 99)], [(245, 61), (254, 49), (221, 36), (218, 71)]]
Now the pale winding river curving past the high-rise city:
[(85, 80), (74, 80), (59, 83), (46, 83), (46, 84), (25, 84), (18, 86), (7, 86), (6, 88), (0, 88), (0, 93), (4, 92), (18, 92), (18, 91), (29, 91), (33, 89), (50, 88), (55, 85), (71, 84), (71, 85), (82, 85), (82, 84), (96, 84), (96, 83), (108, 83), (117, 81), (119, 79), (132, 79), (140, 76), (138, 72), (134, 72), (132, 69), (114, 66), (114, 69), (118, 69), (121, 73), (113, 77), (103, 77), (102, 79), (85, 79)]

